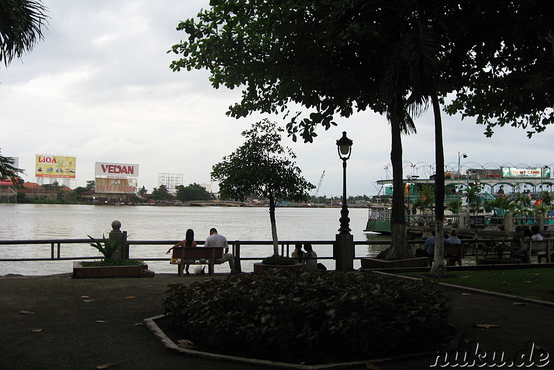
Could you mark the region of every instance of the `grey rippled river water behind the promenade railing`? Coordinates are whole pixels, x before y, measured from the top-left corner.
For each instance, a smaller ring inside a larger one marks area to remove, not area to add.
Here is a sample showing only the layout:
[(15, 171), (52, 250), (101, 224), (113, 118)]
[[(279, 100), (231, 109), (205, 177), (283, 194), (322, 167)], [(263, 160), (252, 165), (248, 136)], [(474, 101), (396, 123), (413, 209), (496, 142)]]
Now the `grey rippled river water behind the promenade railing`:
[[(367, 209), (350, 209), (350, 229), (355, 241), (386, 239), (364, 233)], [(339, 208), (276, 209), (279, 240), (334, 240), (339, 228)], [(195, 231), (195, 240), (205, 240), (211, 227), (228, 240), (271, 240), (269, 210), (262, 207), (224, 206), (91, 206), (62, 204), (0, 204), (0, 240), (102, 238), (111, 231), (111, 222), (121, 222), (129, 240), (181, 240), (186, 229)], [(131, 258), (165, 258), (168, 245), (131, 246)], [(383, 247), (359, 246), (356, 256), (375, 256)], [(319, 256), (331, 256), (332, 247), (314, 246)], [(0, 258), (49, 258), (50, 245), (0, 245)], [(242, 246), (242, 257), (272, 254), (271, 245)], [(62, 257), (98, 256), (88, 244), (62, 244)], [(243, 261), (242, 270), (252, 270), (253, 261)], [(321, 261), (334, 269), (334, 261)], [(148, 261), (150, 270), (175, 273), (168, 261)], [(0, 275), (45, 275), (71, 272), (73, 261), (0, 261)], [(355, 261), (355, 268), (359, 261)], [(228, 265), (216, 266), (228, 272)]]

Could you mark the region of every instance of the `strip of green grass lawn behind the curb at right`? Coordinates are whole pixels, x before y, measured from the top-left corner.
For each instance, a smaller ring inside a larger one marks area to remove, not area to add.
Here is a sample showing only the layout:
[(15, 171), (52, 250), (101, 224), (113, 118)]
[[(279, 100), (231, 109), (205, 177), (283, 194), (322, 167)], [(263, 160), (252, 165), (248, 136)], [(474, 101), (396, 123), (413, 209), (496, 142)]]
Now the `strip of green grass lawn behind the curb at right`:
[[(431, 279), (427, 272), (409, 272), (399, 275), (416, 277), (418, 279)], [(512, 294), (518, 297), (554, 301), (553, 268), (459, 271), (449, 272), (448, 277), (445, 279), (431, 280), (488, 290), (490, 292)]]

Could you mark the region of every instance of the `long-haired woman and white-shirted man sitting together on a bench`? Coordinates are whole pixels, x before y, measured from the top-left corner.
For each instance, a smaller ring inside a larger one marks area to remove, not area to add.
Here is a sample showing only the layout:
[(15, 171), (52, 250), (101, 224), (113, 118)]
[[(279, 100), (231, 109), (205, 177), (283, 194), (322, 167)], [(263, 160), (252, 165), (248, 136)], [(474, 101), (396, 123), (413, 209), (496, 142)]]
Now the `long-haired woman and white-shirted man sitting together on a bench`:
[[(166, 252), (166, 254), (170, 254), (172, 253), (172, 259), (177, 259), (177, 258), (180, 258), (180, 255), (181, 253), (178, 253), (177, 251), (183, 247), (197, 247), (197, 244), (194, 240), (195, 238), (195, 232), (193, 231), (193, 229), (188, 229), (186, 231), (186, 234), (185, 234), (185, 239), (184, 240), (181, 240), (179, 243), (177, 243), (176, 245), (174, 245), (173, 247), (171, 247), (170, 249), (168, 249), (168, 252)], [(214, 263), (224, 263), (224, 262), (228, 262), (229, 261), (229, 267), (231, 268), (231, 274), (236, 274), (237, 271), (235, 270), (235, 258), (233, 256), (233, 254), (229, 253), (229, 244), (227, 243), (227, 239), (220, 235), (220, 234), (217, 234), (217, 230), (215, 229), (215, 227), (211, 228), (210, 229), (210, 236), (208, 236), (208, 238), (206, 238), (206, 241), (204, 242), (204, 246), (201, 246), (201, 247), (216, 247), (216, 248), (222, 248), (224, 249), (224, 252), (223, 254), (221, 255), (221, 258), (213, 258), (214, 261), (210, 261), (210, 263), (208, 264), (210, 266), (210, 273), (213, 274), (213, 264)], [(179, 251), (181, 252), (181, 251)], [(200, 252), (200, 251), (196, 251), (196, 252)], [(197, 255), (199, 255), (199, 253), (195, 253)], [(206, 255), (206, 258), (209, 258), (208, 255)], [(206, 258), (199, 258), (199, 262), (203, 262), (203, 263), (206, 263), (206, 261), (200, 261), (200, 260), (205, 260)], [(188, 275), (189, 272), (188, 272), (188, 267), (191, 265), (191, 264), (195, 264), (197, 261), (197, 259), (186, 259), (185, 261), (181, 261), (179, 263), (179, 265), (182, 265), (182, 264), (186, 264), (185, 265), (185, 272), (186, 274)], [(173, 262), (172, 262), (173, 263)], [(179, 274), (182, 274), (182, 271), (181, 269), (179, 268)]]

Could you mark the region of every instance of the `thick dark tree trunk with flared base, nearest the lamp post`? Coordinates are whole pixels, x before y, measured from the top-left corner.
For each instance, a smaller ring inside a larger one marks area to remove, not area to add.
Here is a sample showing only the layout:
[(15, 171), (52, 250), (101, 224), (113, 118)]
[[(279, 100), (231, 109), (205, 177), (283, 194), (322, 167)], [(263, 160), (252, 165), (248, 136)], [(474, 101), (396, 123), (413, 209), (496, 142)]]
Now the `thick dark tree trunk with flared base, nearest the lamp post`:
[(393, 209), (391, 211), (391, 246), (379, 257), (386, 260), (413, 258), (406, 240), (404, 182), (402, 181), (402, 130), (397, 116), (391, 114), (391, 164), (393, 165)]

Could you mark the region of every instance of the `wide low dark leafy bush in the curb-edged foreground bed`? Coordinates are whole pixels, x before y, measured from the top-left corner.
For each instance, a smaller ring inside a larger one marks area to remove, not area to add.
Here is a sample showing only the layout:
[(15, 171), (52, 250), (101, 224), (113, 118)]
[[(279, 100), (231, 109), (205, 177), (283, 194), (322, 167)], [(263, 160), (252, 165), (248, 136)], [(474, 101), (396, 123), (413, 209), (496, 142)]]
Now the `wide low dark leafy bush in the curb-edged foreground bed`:
[(163, 308), (207, 351), (307, 363), (437, 349), (450, 313), (429, 281), (281, 270), (171, 284)]

